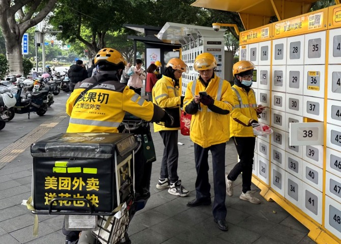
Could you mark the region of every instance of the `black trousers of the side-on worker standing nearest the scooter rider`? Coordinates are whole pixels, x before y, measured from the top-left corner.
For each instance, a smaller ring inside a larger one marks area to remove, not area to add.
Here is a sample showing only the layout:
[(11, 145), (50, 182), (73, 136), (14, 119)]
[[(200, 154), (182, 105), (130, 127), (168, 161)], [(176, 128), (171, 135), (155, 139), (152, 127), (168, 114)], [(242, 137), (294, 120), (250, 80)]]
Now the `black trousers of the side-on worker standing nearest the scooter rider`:
[(164, 149), (161, 161), (160, 178), (169, 178), (171, 183), (179, 180), (178, 177), (178, 130), (161, 130)]

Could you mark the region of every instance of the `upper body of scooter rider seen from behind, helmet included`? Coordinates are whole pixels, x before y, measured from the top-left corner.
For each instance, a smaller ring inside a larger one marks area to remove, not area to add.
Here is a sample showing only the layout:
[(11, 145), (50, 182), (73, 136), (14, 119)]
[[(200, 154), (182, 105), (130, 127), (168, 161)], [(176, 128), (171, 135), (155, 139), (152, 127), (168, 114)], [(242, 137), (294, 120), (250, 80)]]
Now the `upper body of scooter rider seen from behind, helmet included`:
[[(70, 116), (67, 132), (119, 132), (126, 112), (147, 121), (166, 121), (171, 118), (158, 106), (146, 101), (125, 84), (120, 83), (126, 60), (111, 48), (101, 49), (95, 57), (98, 73), (78, 82), (66, 102)], [(87, 87), (102, 82), (78, 99)]]

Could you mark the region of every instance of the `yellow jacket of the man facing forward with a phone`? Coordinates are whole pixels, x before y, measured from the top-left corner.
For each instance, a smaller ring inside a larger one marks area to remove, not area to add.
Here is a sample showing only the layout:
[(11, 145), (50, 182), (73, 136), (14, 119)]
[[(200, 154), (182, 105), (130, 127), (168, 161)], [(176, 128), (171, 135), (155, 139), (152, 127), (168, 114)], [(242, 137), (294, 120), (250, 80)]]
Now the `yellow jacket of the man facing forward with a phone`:
[[(207, 87), (199, 78), (187, 84), (184, 110), (186, 106), (194, 101), (194, 95), (199, 95), (200, 91), (206, 91), (214, 99), (214, 106), (219, 109), (229, 110), (230, 112), (233, 110), (234, 102), (231, 85), (228, 81), (217, 77), (216, 74), (214, 74), (214, 78), (211, 79)], [(191, 140), (203, 148), (229, 141), (230, 114), (215, 113), (203, 103), (200, 103), (200, 108), (192, 115)]]

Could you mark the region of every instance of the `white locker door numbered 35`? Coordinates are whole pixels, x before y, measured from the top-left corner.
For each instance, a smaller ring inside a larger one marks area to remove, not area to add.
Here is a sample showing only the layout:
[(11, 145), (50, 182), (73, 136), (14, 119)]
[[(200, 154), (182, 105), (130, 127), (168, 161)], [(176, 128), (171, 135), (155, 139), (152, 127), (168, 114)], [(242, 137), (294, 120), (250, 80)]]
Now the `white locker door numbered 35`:
[(305, 34), (304, 64), (324, 64), (326, 59), (326, 31)]

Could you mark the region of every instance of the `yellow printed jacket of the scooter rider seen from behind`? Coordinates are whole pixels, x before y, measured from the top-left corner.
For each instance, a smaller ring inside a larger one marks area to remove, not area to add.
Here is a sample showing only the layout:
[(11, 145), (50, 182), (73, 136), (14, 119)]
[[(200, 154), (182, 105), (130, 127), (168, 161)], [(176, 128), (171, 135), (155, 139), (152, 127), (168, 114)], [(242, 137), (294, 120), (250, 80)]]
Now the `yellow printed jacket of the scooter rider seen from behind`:
[[(103, 79), (106, 81), (87, 91), (74, 106), (80, 92)], [(156, 106), (113, 79), (117, 79), (116, 74), (112, 76), (112, 73), (102, 71), (76, 84), (66, 102), (66, 113), (70, 116), (68, 133), (118, 132), (117, 127), (125, 112), (147, 121), (152, 120)]]

